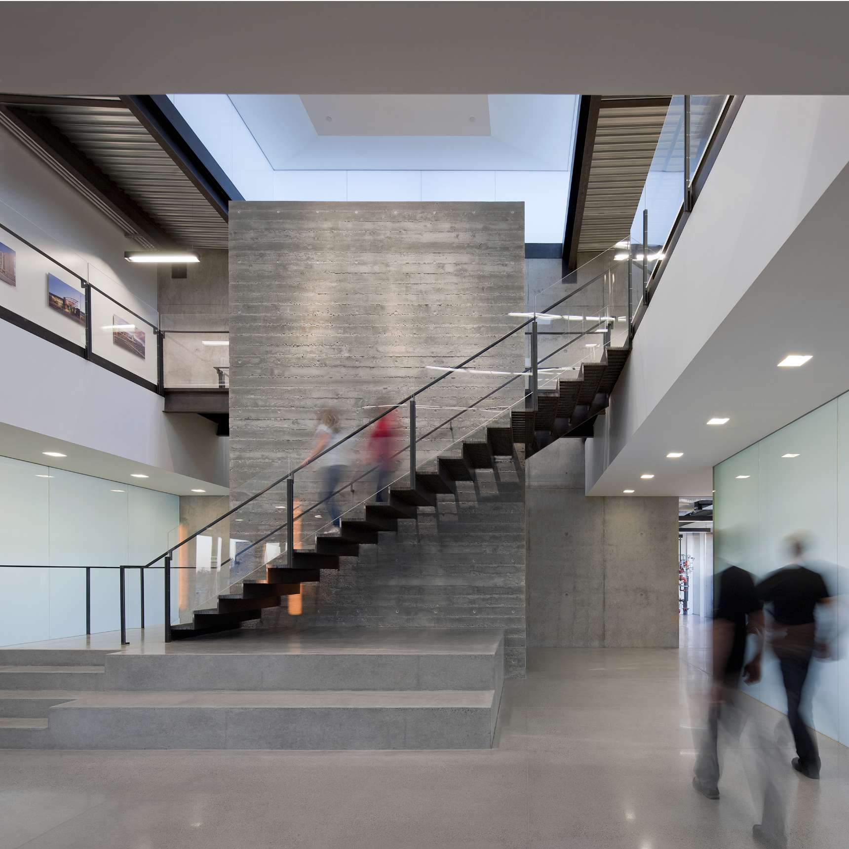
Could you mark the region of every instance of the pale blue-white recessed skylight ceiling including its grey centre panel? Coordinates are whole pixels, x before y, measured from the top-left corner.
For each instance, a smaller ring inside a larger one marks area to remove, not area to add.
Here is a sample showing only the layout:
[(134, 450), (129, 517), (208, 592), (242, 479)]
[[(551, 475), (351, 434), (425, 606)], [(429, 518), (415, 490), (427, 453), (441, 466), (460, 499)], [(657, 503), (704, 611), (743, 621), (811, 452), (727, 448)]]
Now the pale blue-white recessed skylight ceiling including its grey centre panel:
[(567, 171), (578, 100), (573, 94), (230, 99), (278, 171)]

